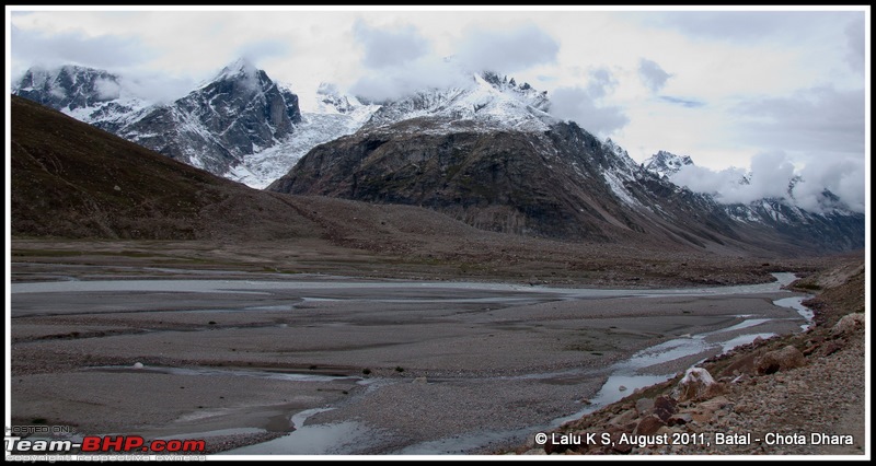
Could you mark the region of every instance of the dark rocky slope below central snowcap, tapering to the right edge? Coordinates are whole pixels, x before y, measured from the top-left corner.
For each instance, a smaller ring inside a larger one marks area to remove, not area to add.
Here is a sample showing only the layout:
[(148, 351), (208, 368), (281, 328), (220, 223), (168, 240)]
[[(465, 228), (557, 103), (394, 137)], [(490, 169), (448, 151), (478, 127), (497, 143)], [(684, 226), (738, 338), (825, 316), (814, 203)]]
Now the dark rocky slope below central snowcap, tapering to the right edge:
[(740, 221), (575, 124), (543, 132), (477, 125), (418, 117), (366, 126), (314, 148), (268, 189), (423, 206), (479, 229), (572, 241), (647, 236), (708, 251), (785, 254), (863, 246), (863, 215), (825, 229), (808, 218)]

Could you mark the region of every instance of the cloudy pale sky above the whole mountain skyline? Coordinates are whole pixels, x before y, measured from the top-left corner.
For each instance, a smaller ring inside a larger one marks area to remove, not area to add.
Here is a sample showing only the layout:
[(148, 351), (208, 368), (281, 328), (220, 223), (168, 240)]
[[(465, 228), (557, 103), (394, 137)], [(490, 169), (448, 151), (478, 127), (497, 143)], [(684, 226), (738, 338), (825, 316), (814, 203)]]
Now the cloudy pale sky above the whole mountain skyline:
[(803, 207), (865, 206), (869, 7), (59, 8), (7, 7), (8, 89), (76, 63), (171, 101), (245, 57), (302, 95), (381, 100), (492, 70), (636, 162), (690, 155), (692, 189), (746, 201), (799, 176)]

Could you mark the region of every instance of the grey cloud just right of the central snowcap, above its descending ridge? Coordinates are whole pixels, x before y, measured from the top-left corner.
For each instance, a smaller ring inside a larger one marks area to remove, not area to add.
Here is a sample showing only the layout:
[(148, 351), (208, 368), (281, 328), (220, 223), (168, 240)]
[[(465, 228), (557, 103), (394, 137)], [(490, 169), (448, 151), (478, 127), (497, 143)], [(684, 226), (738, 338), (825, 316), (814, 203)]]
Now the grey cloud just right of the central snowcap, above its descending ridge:
[(612, 78), (601, 72), (587, 89), (558, 88), (551, 94), (551, 114), (557, 118), (576, 121), (581, 128), (599, 136), (608, 136), (623, 128), (630, 118), (621, 107), (601, 106), (597, 101), (612, 86)]

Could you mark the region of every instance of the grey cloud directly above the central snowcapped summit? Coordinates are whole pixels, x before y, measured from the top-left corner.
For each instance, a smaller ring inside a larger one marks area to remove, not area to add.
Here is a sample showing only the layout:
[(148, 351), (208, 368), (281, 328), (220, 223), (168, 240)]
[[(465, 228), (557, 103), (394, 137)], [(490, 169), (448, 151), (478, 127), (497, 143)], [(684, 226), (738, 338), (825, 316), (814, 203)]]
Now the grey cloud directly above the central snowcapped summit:
[(511, 73), (556, 62), (560, 44), (534, 24), (514, 30), (470, 28), (454, 59), (468, 71)]

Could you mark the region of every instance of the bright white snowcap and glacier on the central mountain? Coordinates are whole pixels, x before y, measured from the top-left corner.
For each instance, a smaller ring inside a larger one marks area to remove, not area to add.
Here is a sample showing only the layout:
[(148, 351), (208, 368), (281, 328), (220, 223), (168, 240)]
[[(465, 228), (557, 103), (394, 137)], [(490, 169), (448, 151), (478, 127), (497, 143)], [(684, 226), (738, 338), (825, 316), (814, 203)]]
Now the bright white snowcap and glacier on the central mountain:
[[(428, 120), (428, 125), (411, 126), (418, 133), (461, 129), (546, 131), (558, 121), (546, 113), (549, 106), (545, 92), (491, 72), (472, 75), (469, 88), (420, 91), (379, 104), (362, 103), (333, 84), (323, 83), (314, 96), (300, 100), (301, 123), (296, 125), (295, 136), (244, 158), (223, 176), (262, 189), (319, 144), (360, 129), (380, 130), (406, 120)], [(393, 130), (397, 131), (397, 126)]]

